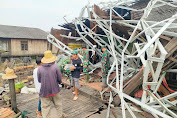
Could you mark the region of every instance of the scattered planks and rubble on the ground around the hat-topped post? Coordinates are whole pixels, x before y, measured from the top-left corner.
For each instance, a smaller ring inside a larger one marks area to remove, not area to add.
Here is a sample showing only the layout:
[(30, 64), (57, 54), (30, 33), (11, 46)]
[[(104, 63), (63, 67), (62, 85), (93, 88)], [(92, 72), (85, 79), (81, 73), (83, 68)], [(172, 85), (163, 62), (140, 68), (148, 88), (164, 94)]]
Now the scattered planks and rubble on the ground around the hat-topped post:
[[(15, 95), (12, 94), (12, 91), (9, 90), (9, 88), (12, 88), (12, 84), (10, 84), (8, 79), (2, 79), (5, 73), (7, 74), (8, 69), (10, 69), (9, 67), (12, 68), (11, 70), (13, 70), (13, 74), (15, 72), (15, 74), (18, 76), (13, 76), (15, 77), (12, 83), (13, 85), (15, 84), (14, 94), (15, 92), (20, 93), (22, 88), (23, 92), (25, 91), (24, 93), (36, 92), (35, 88), (28, 88), (28, 91), (26, 90), (26, 86), (32, 87), (32, 74), (35, 65), (32, 62), (24, 62), (24, 60), (21, 59), (11, 59), (10, 61), (6, 60), (1, 66), (0, 73), (0, 117), (3, 118), (11, 118), (13, 116), (15, 117), (20, 115), (20, 113), (15, 114), (12, 111), (14, 110), (15, 112), (17, 112), (15, 109), (13, 109), (16, 100), (14, 100), (15, 98), (13, 98), (12, 96)], [(10, 107), (12, 107), (12, 110), (10, 109)]]

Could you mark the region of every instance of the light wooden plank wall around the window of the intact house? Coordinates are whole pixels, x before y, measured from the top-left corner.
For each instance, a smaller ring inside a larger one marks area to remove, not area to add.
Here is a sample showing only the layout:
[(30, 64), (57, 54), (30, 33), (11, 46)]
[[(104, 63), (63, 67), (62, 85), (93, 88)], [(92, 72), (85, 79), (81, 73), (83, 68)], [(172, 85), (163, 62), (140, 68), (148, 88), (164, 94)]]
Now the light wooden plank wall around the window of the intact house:
[[(21, 41), (28, 41), (28, 50), (21, 50)], [(11, 56), (43, 55), (47, 50), (47, 40), (12, 39)]]

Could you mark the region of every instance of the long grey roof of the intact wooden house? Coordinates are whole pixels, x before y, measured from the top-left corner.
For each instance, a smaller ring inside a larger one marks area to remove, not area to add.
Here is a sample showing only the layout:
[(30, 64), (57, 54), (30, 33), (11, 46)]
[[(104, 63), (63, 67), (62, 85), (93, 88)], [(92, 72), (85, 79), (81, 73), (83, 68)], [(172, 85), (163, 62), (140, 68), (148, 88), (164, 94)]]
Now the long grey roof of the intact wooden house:
[(2, 38), (47, 39), (47, 35), (47, 32), (38, 28), (0, 25)]

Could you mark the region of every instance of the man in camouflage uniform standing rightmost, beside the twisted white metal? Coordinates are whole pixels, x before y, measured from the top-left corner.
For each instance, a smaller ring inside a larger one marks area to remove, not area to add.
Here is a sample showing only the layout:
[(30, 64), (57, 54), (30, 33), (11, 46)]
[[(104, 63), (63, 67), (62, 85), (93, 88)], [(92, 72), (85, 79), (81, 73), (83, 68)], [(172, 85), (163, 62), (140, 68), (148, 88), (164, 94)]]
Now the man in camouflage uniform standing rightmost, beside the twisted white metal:
[(110, 67), (109, 63), (109, 53), (106, 49), (106, 46), (102, 46), (103, 56), (101, 58), (102, 64), (102, 83), (101, 86), (104, 88), (107, 86), (107, 74)]

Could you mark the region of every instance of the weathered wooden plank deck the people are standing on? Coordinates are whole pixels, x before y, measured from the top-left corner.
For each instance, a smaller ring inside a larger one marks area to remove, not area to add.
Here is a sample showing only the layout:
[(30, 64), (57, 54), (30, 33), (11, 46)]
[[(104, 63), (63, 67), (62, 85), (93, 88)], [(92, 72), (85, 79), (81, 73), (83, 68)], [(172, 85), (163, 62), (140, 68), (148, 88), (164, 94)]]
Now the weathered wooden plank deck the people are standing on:
[[(81, 90), (87, 89), (87, 87), (81, 87)], [(86, 91), (86, 90), (85, 90)], [(88, 93), (92, 93), (93, 91), (89, 91)], [(80, 92), (79, 99), (77, 101), (73, 101), (74, 95), (72, 95), (71, 90), (63, 89), (61, 90), (61, 94), (63, 96), (63, 111), (66, 114), (67, 118), (106, 118), (107, 108), (101, 103), (99, 100), (96, 100), (92, 97), (87, 97)], [(27, 115), (29, 118), (36, 118), (36, 110), (38, 106), (38, 94), (18, 94), (17, 95), (17, 103), (18, 109), (20, 111), (28, 111), (31, 114)], [(51, 118), (57, 118), (57, 112), (53, 105), (51, 106), (50, 116)], [(102, 109), (100, 111), (100, 109)], [(115, 118), (113, 112), (116, 114), (118, 118), (122, 118), (122, 113), (120, 108), (114, 108), (110, 111), (110, 118)], [(137, 118), (144, 118), (139, 113), (135, 112)], [(126, 117), (132, 118), (129, 112), (126, 110)]]

